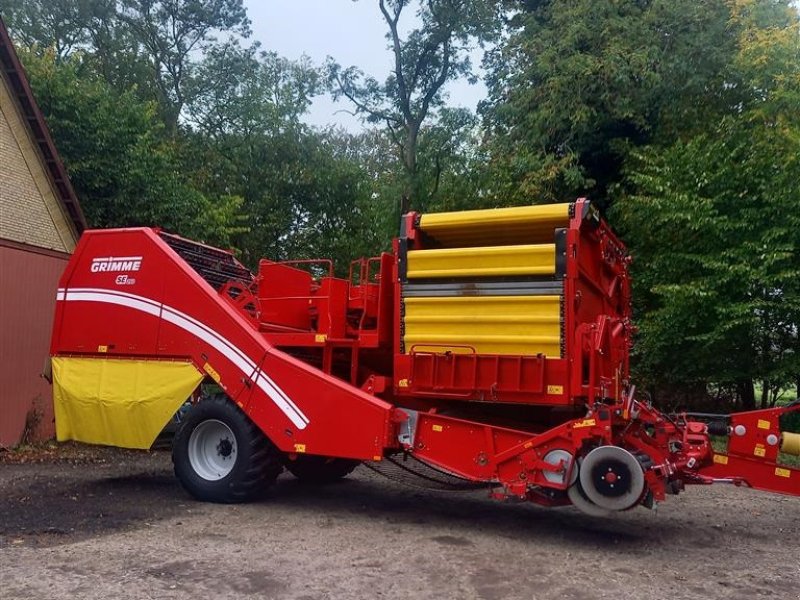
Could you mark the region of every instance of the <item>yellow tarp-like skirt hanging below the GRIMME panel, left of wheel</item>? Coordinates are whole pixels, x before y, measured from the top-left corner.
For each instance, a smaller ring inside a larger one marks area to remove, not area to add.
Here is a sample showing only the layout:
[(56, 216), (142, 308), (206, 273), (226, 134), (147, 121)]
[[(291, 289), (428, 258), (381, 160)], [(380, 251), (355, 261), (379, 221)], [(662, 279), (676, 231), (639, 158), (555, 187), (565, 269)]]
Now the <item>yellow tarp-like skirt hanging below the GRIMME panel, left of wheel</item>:
[(188, 362), (52, 361), (58, 441), (147, 449), (203, 379)]

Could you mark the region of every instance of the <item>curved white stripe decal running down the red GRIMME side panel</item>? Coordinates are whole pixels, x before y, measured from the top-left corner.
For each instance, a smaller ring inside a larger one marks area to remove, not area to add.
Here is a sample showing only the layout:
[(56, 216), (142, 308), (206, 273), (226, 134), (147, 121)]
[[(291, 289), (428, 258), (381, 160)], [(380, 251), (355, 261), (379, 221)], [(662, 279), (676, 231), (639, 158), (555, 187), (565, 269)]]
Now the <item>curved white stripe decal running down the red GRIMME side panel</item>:
[(244, 352), (213, 329), (179, 310), (165, 304), (159, 304), (143, 296), (97, 288), (70, 288), (69, 290), (59, 288), (56, 299), (116, 304), (160, 317), (203, 340), (225, 356), (245, 375), (252, 376), (256, 385), (283, 411), (295, 427), (305, 429), (310, 422), (308, 417), (303, 414), (303, 411), (292, 402), (286, 393), (264, 371), (258, 369), (256, 364)]

